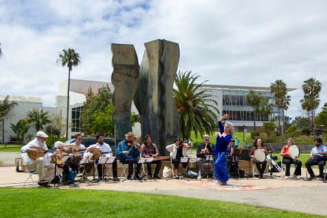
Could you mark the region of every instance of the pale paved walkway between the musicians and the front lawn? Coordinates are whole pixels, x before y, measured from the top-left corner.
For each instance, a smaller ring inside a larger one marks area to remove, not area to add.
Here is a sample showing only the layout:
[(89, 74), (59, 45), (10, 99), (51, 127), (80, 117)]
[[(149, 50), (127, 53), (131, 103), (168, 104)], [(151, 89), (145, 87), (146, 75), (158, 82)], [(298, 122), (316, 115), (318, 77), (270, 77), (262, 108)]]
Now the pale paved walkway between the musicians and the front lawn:
[[(17, 186), (21, 187), (27, 173), (16, 173), (15, 167), (0, 167), (0, 187)], [(302, 169), (304, 170), (304, 169)], [(306, 175), (305, 171), (304, 174)], [(33, 175), (37, 180), (37, 175)], [(249, 189), (244, 189), (250, 187)], [(62, 188), (69, 188), (64, 186)], [(140, 193), (156, 193), (163, 195), (178, 195), (182, 197), (194, 197), (202, 199), (215, 199), (220, 201), (231, 201), (242, 204), (253, 204), (284, 210), (306, 212), (310, 214), (326, 215), (327, 207), (324, 203), (327, 200), (327, 183), (319, 180), (306, 182), (293, 179), (230, 179), (229, 186), (222, 188), (216, 181), (204, 179), (198, 182), (194, 179), (181, 181), (171, 179), (158, 179), (146, 182), (101, 182), (98, 184), (80, 184), (78, 189), (100, 189), (100, 190), (121, 190)], [(227, 190), (228, 188), (235, 188)], [(74, 189), (74, 188), (72, 188)], [(260, 190), (257, 190), (260, 189)], [(322, 205), (322, 206), (319, 206)]]

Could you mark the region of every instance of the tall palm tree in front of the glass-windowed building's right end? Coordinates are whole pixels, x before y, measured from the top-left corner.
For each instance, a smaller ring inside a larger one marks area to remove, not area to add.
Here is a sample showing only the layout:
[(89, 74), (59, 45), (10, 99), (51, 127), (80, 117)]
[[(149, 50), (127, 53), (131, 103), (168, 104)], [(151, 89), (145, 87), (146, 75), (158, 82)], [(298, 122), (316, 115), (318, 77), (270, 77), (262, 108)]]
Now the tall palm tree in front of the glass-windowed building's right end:
[(291, 96), (287, 96), (287, 88), (286, 83), (283, 80), (275, 80), (275, 83), (271, 83), (271, 93), (273, 94), (273, 98), (275, 100), (275, 105), (278, 108), (278, 126), (279, 126), (279, 133), (284, 135), (284, 129), (281, 128), (281, 121), (280, 121), (280, 109), (282, 109), (282, 119), (283, 119), (283, 126), (284, 126), (284, 109), (288, 109), (288, 106), (291, 101)]

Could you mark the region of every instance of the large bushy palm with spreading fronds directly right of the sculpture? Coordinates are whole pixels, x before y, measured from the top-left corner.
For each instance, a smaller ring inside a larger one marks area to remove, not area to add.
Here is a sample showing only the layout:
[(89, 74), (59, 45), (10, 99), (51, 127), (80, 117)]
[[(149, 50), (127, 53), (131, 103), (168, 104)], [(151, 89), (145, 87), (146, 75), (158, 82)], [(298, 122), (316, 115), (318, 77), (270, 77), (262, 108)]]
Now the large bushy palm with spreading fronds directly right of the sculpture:
[(203, 83), (196, 84), (200, 76), (192, 72), (178, 72), (175, 78), (177, 89), (173, 89), (173, 98), (176, 103), (180, 119), (180, 136), (190, 138), (194, 130), (196, 137), (198, 132), (201, 137), (204, 133), (211, 133), (215, 127), (214, 111), (218, 103), (211, 99), (211, 90), (202, 88)]

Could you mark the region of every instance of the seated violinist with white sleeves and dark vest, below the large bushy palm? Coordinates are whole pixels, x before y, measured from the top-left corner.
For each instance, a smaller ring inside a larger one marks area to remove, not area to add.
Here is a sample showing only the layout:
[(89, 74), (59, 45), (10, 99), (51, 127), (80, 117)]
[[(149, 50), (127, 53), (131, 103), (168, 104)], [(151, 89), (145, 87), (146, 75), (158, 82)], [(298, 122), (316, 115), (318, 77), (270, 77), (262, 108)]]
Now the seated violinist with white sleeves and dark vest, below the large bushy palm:
[[(173, 162), (173, 168), (175, 168), (176, 179), (178, 179), (178, 168), (180, 165), (180, 158), (187, 157), (187, 149), (189, 149), (188, 144), (184, 144), (180, 138), (176, 138), (173, 140), (173, 144), (169, 144), (166, 146), (167, 151), (171, 153), (171, 159)], [(187, 168), (187, 163), (182, 163), (182, 175), (185, 177)]]

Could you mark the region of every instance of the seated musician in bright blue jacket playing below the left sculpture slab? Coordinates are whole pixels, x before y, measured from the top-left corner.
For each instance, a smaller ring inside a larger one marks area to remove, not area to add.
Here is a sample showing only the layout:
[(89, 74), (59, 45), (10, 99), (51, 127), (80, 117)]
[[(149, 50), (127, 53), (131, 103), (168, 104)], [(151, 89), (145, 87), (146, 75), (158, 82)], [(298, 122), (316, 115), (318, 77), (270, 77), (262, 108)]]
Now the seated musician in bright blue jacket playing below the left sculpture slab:
[(142, 164), (138, 164), (142, 147), (140, 144), (134, 142), (134, 134), (129, 132), (125, 135), (125, 140), (119, 142), (116, 149), (116, 156), (122, 164), (128, 164), (127, 179), (131, 179), (133, 174), (133, 165), (136, 164), (135, 178), (140, 179), (140, 168)]

